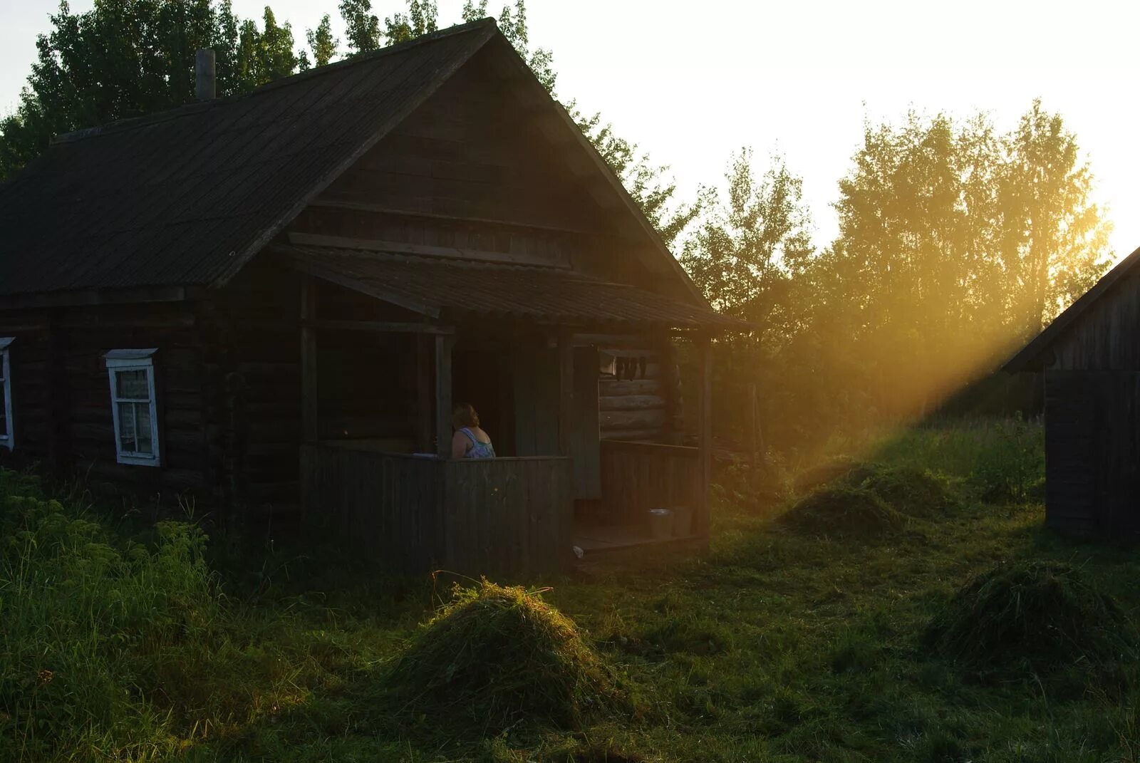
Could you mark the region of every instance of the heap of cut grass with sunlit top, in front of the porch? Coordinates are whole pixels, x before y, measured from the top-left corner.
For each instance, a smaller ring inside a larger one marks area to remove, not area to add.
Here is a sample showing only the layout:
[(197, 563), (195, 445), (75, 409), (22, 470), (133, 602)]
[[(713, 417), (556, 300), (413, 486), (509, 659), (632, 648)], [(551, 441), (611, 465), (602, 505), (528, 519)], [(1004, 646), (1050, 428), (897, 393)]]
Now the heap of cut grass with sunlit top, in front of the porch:
[(570, 618), (538, 593), (486, 579), (456, 586), (382, 683), (399, 716), (482, 736), (522, 723), (580, 729), (626, 707)]

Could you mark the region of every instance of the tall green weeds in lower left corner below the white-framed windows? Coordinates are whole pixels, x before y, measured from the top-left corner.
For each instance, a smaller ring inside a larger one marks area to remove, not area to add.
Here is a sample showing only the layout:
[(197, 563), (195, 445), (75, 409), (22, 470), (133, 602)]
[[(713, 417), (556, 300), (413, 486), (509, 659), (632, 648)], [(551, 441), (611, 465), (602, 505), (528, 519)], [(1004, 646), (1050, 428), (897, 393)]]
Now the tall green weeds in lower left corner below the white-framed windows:
[(166, 755), (174, 663), (209, 661), (220, 635), (204, 535), (166, 521), (123, 542), (14, 472), (0, 501), (0, 758)]

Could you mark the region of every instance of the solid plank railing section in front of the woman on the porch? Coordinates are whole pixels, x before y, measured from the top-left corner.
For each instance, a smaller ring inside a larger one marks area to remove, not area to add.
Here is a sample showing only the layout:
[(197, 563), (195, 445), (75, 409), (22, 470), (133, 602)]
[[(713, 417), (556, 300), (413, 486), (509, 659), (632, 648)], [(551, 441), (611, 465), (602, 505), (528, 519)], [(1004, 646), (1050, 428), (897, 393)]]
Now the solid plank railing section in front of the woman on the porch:
[(441, 461), (348, 444), (301, 447), (301, 498), (400, 571), (564, 569), (573, 503), (565, 457)]

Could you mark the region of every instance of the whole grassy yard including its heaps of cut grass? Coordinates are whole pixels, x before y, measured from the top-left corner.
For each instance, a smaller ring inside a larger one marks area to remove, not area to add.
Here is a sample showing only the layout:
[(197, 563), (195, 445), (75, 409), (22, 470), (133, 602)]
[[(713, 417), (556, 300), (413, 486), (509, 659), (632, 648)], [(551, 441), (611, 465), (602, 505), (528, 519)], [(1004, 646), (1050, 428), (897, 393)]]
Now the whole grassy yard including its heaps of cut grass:
[[(106, 553), (87, 526), (48, 555), (6, 546), (3, 614), (26, 623), (0, 631), (21, 656), (0, 758), (1138, 761), (1140, 559), (1042, 529), (1040, 441), (944, 425), (779, 505), (725, 485), (707, 557), (646, 553), (540, 595), (453, 596), (312, 547), (223, 554), (181, 526), (128, 541), (89, 516), (127, 560), (70, 574), (95, 618), (51, 628), (22, 600), (58, 599), (60, 565)], [(11, 496), (34, 486), (5, 485), (5, 521), (26, 517)], [(148, 585), (154, 625), (101, 614)], [(73, 671), (103, 689), (49, 693)]]

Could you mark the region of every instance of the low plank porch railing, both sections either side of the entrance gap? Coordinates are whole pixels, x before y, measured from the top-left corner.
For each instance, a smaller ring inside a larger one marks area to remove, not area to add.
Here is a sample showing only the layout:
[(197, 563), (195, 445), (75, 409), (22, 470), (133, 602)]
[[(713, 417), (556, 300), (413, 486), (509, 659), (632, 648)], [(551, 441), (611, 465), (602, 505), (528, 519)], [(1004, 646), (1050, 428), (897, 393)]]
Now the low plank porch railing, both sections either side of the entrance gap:
[[(693, 545), (708, 534), (699, 449), (602, 440), (602, 498), (576, 501), (567, 456), (441, 460), (365, 441), (301, 448), (302, 502), (393, 570), (465, 575), (567, 570), (646, 545)], [(684, 508), (689, 527), (654, 537), (651, 508)]]

